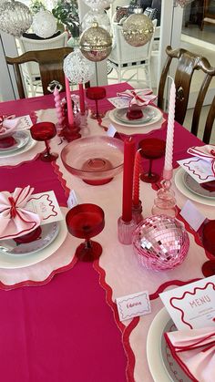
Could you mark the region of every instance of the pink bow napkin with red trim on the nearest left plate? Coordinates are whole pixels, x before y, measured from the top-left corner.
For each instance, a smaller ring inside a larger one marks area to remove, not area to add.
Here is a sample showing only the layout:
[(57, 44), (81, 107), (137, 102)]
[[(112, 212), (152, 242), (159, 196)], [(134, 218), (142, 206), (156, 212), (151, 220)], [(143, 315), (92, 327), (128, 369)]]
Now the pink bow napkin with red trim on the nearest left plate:
[(40, 225), (39, 216), (25, 209), (33, 188), (0, 192), (0, 239), (12, 239), (32, 232)]

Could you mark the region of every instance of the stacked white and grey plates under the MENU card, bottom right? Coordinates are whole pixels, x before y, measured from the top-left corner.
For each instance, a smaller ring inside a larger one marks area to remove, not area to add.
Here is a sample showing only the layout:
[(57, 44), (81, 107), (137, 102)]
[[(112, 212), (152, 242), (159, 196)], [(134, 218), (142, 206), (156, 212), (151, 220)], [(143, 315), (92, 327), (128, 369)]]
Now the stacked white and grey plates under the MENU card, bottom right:
[(159, 311), (152, 321), (147, 337), (147, 358), (155, 382), (191, 382), (171, 356), (164, 338), (165, 332), (177, 330), (166, 308)]

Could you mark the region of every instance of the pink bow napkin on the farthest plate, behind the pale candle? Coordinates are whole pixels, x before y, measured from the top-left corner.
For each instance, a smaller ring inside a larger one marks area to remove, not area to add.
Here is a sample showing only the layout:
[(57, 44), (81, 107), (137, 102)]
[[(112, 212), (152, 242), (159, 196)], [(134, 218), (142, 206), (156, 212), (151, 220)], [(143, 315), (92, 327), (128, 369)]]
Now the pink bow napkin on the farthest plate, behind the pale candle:
[(118, 97), (128, 98), (129, 106), (147, 106), (150, 102), (157, 98), (157, 96), (155, 96), (149, 88), (142, 90), (126, 90), (122, 93), (117, 93), (117, 95)]

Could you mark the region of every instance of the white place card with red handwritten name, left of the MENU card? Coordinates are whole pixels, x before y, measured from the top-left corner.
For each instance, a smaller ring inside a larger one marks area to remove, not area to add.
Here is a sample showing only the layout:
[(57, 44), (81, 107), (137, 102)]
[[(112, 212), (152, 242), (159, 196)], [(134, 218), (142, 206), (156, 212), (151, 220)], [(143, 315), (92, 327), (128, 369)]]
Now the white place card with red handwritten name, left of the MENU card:
[(118, 297), (116, 302), (120, 321), (151, 313), (148, 291)]

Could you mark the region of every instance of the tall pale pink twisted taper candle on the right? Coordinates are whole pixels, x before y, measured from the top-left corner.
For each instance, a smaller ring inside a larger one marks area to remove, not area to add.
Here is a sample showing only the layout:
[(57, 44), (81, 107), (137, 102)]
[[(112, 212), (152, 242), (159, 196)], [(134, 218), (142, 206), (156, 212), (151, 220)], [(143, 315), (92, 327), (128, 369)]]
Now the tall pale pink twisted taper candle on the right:
[(168, 129), (166, 139), (166, 152), (165, 163), (163, 170), (163, 178), (170, 180), (172, 178), (172, 157), (173, 157), (173, 138), (174, 138), (174, 123), (175, 123), (175, 101), (176, 101), (176, 87), (173, 78), (170, 93), (169, 93), (169, 116), (168, 116)]

